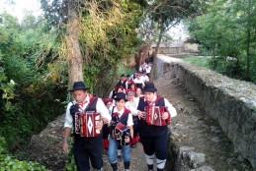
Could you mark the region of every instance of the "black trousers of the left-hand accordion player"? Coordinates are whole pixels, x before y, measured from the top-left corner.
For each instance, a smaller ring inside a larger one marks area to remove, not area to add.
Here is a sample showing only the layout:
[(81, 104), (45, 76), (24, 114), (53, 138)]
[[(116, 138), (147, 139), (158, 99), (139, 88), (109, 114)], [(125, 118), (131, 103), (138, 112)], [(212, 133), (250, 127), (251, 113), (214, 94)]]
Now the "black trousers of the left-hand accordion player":
[(73, 152), (78, 171), (90, 171), (89, 160), (94, 169), (103, 167), (102, 143), (102, 135), (97, 138), (75, 138)]

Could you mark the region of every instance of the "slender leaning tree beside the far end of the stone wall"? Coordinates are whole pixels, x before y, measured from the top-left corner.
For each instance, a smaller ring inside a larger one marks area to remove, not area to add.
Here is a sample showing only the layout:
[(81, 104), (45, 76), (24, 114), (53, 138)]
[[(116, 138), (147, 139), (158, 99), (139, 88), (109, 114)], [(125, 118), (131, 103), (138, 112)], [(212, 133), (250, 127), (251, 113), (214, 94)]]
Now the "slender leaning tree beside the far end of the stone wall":
[[(154, 57), (158, 54), (159, 46), (163, 37), (166, 36), (166, 32), (186, 17), (192, 16), (197, 12), (195, 9), (196, 3), (198, 2), (193, 3), (190, 0), (156, 0), (148, 3), (146, 13), (144, 13), (144, 18), (141, 22), (145, 25), (141, 26), (140, 36), (145, 37), (145, 42), (156, 42)], [(151, 81), (153, 79), (154, 66), (151, 71)]]

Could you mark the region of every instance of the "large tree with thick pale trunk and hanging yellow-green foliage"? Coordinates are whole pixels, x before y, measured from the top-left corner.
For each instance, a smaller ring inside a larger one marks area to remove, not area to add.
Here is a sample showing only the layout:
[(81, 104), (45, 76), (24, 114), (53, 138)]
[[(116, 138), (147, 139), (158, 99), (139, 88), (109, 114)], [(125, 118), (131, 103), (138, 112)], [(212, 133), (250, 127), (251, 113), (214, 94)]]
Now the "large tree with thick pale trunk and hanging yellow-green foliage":
[[(66, 15), (61, 13), (64, 16), (62, 18), (66, 20), (63, 20), (59, 26), (63, 27), (61, 29), (64, 30), (63, 37), (65, 37), (62, 38), (64, 41), (61, 44), (60, 56), (63, 56), (65, 61), (69, 61), (68, 85), (72, 85), (72, 80), (85, 80), (91, 87), (96, 86), (96, 91), (100, 94), (106, 95), (106, 92), (103, 92), (103, 87), (106, 85), (99, 85), (99, 75), (101, 79), (111, 76), (112, 82), (108, 80), (104, 82), (115, 83), (117, 65), (134, 53), (135, 46), (139, 43), (135, 28), (138, 27), (141, 13), (140, 4), (144, 1), (67, 2), (62, 2), (62, 11), (67, 13)], [(68, 10), (64, 10), (64, 7), (68, 7)], [(50, 11), (45, 12), (47, 15), (50, 13)]]

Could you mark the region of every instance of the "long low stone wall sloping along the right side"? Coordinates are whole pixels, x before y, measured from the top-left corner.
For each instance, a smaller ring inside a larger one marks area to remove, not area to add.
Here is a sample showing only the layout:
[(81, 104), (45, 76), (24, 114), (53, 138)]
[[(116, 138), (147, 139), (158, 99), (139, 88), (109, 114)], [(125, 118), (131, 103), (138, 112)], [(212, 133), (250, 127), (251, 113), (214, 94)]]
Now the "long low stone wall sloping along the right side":
[(171, 74), (215, 119), (242, 157), (256, 168), (256, 85), (229, 79), (180, 59), (158, 55), (155, 79)]

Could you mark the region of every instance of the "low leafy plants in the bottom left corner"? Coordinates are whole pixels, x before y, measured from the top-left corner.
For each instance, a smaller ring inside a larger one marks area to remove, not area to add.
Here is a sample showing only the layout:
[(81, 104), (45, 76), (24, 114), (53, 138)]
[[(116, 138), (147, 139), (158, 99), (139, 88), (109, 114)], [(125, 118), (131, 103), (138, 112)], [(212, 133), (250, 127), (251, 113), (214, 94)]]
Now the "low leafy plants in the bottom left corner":
[(0, 171), (46, 171), (45, 167), (38, 162), (20, 161), (6, 153), (6, 142), (0, 137)]

